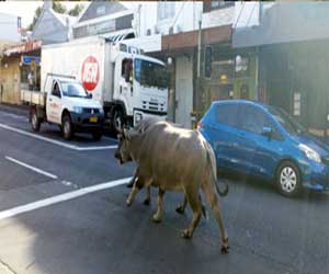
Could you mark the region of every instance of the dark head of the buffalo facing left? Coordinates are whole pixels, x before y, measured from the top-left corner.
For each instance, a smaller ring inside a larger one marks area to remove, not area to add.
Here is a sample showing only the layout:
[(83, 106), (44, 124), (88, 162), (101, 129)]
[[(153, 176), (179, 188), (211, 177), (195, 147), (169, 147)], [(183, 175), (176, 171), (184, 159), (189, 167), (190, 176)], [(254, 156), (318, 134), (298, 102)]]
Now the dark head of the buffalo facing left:
[(114, 157), (120, 161), (121, 164), (132, 161), (131, 151), (131, 133), (128, 128), (123, 128), (118, 130), (117, 135), (117, 149), (114, 152)]

